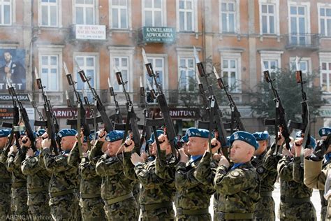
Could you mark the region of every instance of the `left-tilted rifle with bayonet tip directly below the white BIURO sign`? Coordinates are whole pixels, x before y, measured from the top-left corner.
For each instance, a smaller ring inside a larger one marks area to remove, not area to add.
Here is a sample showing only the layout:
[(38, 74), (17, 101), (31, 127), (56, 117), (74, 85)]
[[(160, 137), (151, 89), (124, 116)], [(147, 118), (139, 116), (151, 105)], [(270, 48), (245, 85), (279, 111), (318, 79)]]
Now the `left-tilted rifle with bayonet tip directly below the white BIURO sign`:
[[(78, 73), (80, 74), (80, 78), (82, 79), (82, 82), (84, 82), (84, 83), (87, 82), (87, 85), (89, 85), (89, 90), (91, 90), (92, 95), (94, 97), (94, 102), (96, 102), (96, 108), (98, 109), (98, 112), (101, 115), (103, 124), (105, 125), (105, 131), (107, 131), (109, 133), (110, 131), (112, 131), (114, 129), (114, 127), (112, 127), (112, 122), (110, 122), (110, 119), (109, 119), (107, 113), (105, 113), (105, 106), (103, 106), (103, 103), (102, 103), (100, 97), (98, 96), (98, 94), (96, 93), (96, 90), (94, 89), (94, 87), (92, 87), (91, 83), (89, 83), (90, 78), (87, 78), (84, 70), (80, 69), (80, 65), (78, 64), (76, 59), (75, 59), (75, 65), (76, 65), (77, 69), (79, 70)], [(96, 115), (96, 112), (94, 112), (94, 115)]]

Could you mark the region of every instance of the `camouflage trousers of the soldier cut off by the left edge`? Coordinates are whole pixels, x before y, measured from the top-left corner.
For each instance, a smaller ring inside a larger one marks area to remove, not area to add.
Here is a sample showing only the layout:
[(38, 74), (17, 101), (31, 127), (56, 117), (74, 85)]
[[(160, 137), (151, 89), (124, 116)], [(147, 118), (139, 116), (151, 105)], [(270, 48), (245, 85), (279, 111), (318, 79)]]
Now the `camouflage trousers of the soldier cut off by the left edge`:
[(10, 183), (0, 183), (0, 220), (10, 215)]

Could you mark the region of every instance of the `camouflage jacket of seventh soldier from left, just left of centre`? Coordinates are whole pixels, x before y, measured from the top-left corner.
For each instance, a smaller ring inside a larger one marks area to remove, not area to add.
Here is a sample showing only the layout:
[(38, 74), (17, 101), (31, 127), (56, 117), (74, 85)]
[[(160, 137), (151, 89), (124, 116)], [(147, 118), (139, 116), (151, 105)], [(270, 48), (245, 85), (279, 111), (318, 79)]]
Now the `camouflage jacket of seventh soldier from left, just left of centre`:
[[(124, 174), (128, 178), (140, 181), (140, 204), (159, 204), (172, 202), (175, 197), (175, 184), (173, 180), (164, 180), (155, 173), (156, 159), (133, 166), (131, 152), (124, 152)], [(134, 174), (132, 174), (132, 171)]]

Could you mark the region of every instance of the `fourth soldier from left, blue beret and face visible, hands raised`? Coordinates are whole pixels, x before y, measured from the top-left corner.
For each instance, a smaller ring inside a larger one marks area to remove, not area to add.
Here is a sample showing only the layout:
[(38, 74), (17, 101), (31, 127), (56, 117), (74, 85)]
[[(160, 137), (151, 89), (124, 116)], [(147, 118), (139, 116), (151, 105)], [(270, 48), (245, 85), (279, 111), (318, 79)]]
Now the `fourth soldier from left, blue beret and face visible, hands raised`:
[(61, 129), (57, 136), (61, 138), (59, 155), (53, 155), (50, 150), (50, 139), (43, 134), (43, 150), (39, 159), (43, 158), (45, 168), (52, 173), (49, 185), (50, 214), (54, 220), (78, 220), (78, 168), (68, 164), (68, 154), (76, 145), (77, 131)]

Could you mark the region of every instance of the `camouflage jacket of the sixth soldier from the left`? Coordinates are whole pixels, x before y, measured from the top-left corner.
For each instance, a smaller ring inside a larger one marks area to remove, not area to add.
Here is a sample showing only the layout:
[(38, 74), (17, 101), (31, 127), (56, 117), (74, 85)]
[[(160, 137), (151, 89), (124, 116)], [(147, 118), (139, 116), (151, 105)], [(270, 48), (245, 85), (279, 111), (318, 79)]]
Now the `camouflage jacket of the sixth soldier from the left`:
[(132, 192), (133, 182), (124, 176), (122, 160), (122, 155), (110, 157), (104, 154), (96, 163), (96, 173), (102, 178), (103, 200), (114, 199)]

